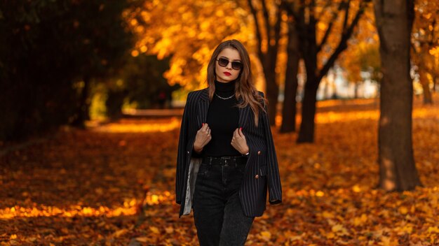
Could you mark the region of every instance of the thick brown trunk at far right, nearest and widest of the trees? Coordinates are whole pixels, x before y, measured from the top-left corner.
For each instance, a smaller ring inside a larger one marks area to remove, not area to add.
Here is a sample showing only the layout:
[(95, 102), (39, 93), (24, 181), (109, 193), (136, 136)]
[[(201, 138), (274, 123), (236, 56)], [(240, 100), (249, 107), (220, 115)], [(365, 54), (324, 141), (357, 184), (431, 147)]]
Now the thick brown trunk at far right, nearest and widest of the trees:
[(374, 0), (381, 54), (379, 187), (404, 191), (420, 185), (412, 147), (413, 85), (410, 33), (414, 1)]

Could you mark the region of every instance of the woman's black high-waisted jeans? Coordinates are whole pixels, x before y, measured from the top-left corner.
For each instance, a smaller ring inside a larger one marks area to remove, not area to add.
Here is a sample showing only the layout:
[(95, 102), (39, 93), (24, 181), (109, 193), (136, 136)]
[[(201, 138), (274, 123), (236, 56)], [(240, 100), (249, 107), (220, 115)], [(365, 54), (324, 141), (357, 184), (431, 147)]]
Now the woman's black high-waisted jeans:
[(255, 219), (244, 215), (238, 196), (245, 161), (205, 162), (198, 170), (192, 206), (198, 241), (201, 246), (244, 245)]

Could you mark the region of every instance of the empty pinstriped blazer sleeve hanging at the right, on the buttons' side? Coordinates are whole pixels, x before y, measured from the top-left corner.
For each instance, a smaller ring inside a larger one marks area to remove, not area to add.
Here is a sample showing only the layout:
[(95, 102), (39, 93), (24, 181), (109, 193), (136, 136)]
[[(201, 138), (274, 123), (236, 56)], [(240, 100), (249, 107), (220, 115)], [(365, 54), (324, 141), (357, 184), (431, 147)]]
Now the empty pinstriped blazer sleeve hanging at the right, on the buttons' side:
[[(260, 92), (264, 97), (264, 92)], [(274, 205), (282, 203), (282, 186), (279, 175), (278, 159), (276, 157), (276, 150), (274, 149), (273, 136), (271, 134), (270, 122), (268, 117), (268, 109), (264, 104), (264, 109), (267, 113), (262, 112), (262, 127), (264, 129), (264, 137), (266, 141), (266, 164), (267, 164), (267, 178), (269, 188), (269, 203)]]

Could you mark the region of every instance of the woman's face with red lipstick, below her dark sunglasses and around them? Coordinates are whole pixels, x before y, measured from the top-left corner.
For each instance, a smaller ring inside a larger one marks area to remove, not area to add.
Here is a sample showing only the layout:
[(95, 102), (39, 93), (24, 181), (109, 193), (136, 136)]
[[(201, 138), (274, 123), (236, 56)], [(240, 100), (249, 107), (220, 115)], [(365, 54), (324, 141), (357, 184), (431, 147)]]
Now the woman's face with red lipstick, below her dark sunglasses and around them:
[[(227, 64), (227, 66), (219, 66), (218, 59), (220, 58), (229, 60), (229, 64)], [(219, 82), (227, 83), (238, 78), (238, 75), (243, 68), (242, 66), (239, 70), (232, 68), (231, 61), (241, 62), (241, 56), (239, 55), (238, 50), (233, 48), (225, 48), (219, 52), (217, 60), (215, 61), (215, 73)]]

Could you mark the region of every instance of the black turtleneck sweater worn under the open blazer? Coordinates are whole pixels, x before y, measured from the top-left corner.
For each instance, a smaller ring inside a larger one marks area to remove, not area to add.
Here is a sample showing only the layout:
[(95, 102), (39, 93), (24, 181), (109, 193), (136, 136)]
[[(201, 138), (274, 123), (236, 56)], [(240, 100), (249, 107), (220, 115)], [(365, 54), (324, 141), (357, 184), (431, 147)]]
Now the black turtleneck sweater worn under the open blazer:
[[(215, 94), (223, 98), (234, 95), (235, 83), (236, 80), (231, 82), (219, 82), (215, 80)], [(230, 144), (231, 138), (234, 136), (234, 131), (238, 128), (239, 110), (236, 107), (238, 103), (236, 96), (224, 100), (215, 94), (210, 102), (206, 120), (210, 128), (212, 139), (203, 147), (201, 154), (197, 154), (193, 151), (193, 156), (241, 156), (241, 153)]]

